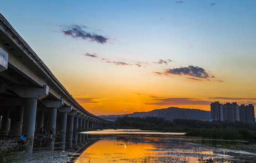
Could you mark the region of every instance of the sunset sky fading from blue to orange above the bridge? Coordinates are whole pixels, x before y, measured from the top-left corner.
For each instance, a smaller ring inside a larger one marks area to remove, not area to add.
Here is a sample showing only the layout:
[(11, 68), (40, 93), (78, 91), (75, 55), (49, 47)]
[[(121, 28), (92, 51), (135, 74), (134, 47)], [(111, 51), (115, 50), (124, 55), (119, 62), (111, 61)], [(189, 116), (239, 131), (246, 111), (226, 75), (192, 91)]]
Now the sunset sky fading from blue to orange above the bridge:
[(95, 115), (256, 104), (256, 0), (0, 0)]

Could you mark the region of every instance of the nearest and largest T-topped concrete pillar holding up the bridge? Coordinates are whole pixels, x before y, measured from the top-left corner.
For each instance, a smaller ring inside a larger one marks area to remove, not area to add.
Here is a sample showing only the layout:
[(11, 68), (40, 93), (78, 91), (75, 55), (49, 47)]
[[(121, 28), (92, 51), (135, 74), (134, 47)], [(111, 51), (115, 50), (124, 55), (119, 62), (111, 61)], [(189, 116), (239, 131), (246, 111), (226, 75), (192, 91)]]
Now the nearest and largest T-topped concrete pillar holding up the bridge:
[(49, 86), (44, 85), (43, 88), (12, 86), (12, 91), (25, 99), (22, 135), (27, 135), (27, 140), (33, 141), (35, 134), (35, 117), (37, 99), (41, 100), (48, 96)]

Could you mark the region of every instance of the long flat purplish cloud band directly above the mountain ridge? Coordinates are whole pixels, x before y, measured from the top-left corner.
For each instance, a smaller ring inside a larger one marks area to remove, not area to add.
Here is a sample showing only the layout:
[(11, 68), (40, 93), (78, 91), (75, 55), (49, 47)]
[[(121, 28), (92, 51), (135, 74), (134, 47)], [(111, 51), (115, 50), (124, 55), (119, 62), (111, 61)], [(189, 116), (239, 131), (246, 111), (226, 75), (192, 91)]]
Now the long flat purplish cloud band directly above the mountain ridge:
[(146, 103), (146, 105), (210, 105), (211, 101), (200, 101), (194, 98), (166, 98), (153, 99), (160, 102)]

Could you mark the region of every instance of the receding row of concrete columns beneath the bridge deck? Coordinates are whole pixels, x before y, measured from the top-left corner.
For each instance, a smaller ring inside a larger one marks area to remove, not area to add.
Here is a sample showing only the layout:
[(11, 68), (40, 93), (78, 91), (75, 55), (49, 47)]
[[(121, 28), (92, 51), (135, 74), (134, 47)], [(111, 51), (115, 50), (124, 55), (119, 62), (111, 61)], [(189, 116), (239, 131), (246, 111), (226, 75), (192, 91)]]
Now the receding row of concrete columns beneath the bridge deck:
[[(47, 132), (56, 129), (73, 132), (78, 128), (102, 128), (105, 122), (78, 112), (72, 105), (65, 106), (64, 100), (45, 100), (49, 87), (31, 88), (15, 86), (13, 90), (20, 98), (0, 99), (1, 135), (27, 135), (28, 140), (34, 139), (42, 127)], [(33, 97), (33, 98), (32, 98)]]

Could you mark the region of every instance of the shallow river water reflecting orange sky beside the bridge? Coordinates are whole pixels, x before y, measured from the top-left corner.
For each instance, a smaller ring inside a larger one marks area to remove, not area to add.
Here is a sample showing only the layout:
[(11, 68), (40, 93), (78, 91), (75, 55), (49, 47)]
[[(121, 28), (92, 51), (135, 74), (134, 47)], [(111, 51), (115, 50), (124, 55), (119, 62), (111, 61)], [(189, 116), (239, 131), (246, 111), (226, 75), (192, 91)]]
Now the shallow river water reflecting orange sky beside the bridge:
[(67, 133), (54, 139), (37, 138), (34, 141), (34, 145), (26, 149), (31, 154), (21, 162), (199, 163), (201, 158), (219, 162), (223, 158), (242, 163), (247, 159), (256, 160), (255, 150), (230, 148), (248, 142), (188, 138), (184, 133), (110, 129)]

